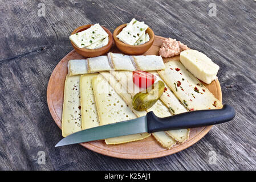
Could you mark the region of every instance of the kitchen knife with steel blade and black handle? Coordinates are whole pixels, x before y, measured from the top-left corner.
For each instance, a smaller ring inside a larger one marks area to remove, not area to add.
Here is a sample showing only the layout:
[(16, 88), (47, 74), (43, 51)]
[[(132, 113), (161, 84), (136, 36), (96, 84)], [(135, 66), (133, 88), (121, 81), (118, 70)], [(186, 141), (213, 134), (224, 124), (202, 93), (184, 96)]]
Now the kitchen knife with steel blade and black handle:
[(224, 105), (222, 109), (190, 111), (165, 118), (159, 118), (151, 111), (140, 118), (78, 131), (60, 140), (55, 147), (137, 133), (216, 125), (230, 121), (234, 117), (235, 110), (230, 105)]

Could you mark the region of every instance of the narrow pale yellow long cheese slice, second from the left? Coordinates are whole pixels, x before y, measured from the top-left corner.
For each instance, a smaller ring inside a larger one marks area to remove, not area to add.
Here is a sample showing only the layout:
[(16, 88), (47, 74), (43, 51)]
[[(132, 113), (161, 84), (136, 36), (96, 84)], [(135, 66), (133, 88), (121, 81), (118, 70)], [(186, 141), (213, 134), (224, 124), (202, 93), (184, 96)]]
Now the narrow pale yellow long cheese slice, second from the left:
[(91, 127), (100, 126), (94, 98), (94, 90), (92, 89), (92, 78), (96, 77), (97, 75), (99, 74), (92, 73), (82, 75), (80, 77), (80, 102), (83, 130), (90, 129)]

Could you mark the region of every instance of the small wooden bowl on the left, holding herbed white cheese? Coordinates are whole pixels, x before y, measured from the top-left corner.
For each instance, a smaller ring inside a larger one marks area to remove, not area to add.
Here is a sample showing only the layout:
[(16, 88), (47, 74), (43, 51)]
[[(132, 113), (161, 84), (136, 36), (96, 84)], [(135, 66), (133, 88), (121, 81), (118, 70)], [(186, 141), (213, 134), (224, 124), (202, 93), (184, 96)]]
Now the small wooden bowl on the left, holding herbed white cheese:
[[(78, 27), (76, 28), (72, 34), (76, 34), (78, 32), (84, 31), (88, 28), (90, 28), (92, 26), (92, 24), (86, 24), (84, 26)], [(84, 57), (96, 57), (96, 56), (101, 56), (104, 55), (105, 53), (107, 53), (109, 51), (109, 49), (112, 47), (113, 44), (113, 36), (111, 34), (111, 31), (109, 31), (107, 28), (101, 26), (107, 33), (108, 33), (108, 44), (104, 47), (98, 48), (98, 49), (87, 49), (87, 48), (79, 48), (78, 46), (76, 46), (76, 44), (74, 44), (72, 41), (71, 44), (74, 47), (75, 51), (79, 53), (79, 55), (82, 55)], [(72, 35), (71, 34), (71, 35)]]

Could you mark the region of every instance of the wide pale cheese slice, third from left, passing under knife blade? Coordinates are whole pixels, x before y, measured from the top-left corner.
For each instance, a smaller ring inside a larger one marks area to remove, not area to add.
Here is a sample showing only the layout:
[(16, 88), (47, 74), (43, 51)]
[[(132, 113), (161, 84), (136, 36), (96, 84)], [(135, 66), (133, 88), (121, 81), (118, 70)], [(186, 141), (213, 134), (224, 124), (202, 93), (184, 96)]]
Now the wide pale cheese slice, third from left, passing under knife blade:
[[(137, 118), (129, 106), (115, 92), (115, 90), (109, 85), (108, 81), (105, 80), (102, 75), (94, 77), (92, 80), (92, 85), (100, 125), (108, 125), (115, 122)], [(135, 140), (141, 140), (148, 136), (148, 133), (141, 133), (122, 137), (107, 138), (105, 139), (105, 143), (127, 143)]]

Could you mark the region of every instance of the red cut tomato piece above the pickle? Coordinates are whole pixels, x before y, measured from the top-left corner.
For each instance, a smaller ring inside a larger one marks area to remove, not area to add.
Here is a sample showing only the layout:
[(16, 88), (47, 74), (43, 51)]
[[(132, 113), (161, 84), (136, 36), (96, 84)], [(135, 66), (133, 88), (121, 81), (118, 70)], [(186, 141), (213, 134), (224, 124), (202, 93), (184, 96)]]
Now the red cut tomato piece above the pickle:
[(133, 83), (140, 88), (148, 88), (156, 81), (156, 76), (144, 71), (132, 72)]

